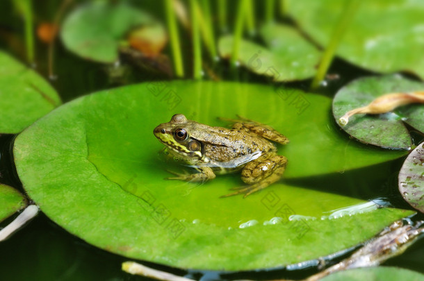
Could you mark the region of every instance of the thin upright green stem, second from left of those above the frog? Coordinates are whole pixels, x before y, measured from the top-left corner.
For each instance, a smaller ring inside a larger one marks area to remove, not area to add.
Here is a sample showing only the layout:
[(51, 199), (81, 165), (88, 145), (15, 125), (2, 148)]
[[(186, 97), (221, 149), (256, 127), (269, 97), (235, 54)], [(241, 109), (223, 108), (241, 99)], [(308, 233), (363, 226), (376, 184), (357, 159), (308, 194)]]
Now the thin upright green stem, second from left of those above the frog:
[(190, 18), (193, 36), (193, 78), (202, 78), (202, 46), (200, 42), (199, 19), (197, 18), (197, 0), (190, 0)]

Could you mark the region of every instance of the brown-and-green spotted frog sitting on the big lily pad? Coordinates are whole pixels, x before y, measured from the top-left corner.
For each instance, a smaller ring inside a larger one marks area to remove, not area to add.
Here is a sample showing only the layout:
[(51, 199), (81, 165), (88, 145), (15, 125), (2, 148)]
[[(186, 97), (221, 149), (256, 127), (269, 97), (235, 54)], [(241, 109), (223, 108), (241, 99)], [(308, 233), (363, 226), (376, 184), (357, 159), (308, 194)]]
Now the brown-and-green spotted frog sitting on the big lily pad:
[(206, 182), (216, 175), (240, 171), (246, 185), (231, 188), (229, 197), (244, 198), (269, 187), (282, 178), (287, 158), (277, 154), (278, 144), (289, 140), (274, 128), (244, 117), (219, 118), (231, 122), (231, 128), (208, 126), (174, 114), (168, 123), (154, 128), (155, 137), (165, 145), (168, 155), (195, 170), (195, 173), (168, 171), (168, 180)]

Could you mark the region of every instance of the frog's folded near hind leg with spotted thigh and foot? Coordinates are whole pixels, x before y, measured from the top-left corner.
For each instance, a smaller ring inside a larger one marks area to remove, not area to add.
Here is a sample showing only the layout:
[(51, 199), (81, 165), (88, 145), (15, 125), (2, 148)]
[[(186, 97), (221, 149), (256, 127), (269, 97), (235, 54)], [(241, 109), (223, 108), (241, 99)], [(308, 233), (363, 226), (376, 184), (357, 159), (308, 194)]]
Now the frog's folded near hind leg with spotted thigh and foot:
[(279, 180), (286, 169), (287, 158), (282, 155), (272, 154), (259, 157), (246, 164), (241, 171), (243, 182), (249, 184), (245, 187), (236, 187), (236, 191), (222, 197), (245, 194), (244, 197), (264, 189)]

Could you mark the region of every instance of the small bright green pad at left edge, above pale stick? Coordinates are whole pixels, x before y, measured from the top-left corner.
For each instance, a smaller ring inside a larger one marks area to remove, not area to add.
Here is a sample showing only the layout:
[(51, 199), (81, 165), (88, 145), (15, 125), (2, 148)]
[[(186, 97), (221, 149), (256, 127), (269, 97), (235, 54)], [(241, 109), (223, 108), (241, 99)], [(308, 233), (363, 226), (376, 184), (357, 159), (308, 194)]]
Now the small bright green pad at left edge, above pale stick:
[(13, 187), (0, 184), (0, 221), (26, 206), (26, 199)]

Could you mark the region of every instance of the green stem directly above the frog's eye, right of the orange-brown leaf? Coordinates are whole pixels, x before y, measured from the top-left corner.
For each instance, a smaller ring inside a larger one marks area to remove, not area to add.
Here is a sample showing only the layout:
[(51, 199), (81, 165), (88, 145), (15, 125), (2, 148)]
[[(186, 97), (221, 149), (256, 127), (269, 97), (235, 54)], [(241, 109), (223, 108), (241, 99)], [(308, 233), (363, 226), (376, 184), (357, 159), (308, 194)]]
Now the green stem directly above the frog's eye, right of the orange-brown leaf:
[(175, 75), (184, 76), (183, 58), (181, 53), (181, 44), (179, 42), (177, 19), (175, 19), (173, 0), (165, 0), (165, 12), (168, 19), (168, 30), (170, 32), (170, 44), (172, 49), (172, 58), (174, 59)]

